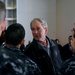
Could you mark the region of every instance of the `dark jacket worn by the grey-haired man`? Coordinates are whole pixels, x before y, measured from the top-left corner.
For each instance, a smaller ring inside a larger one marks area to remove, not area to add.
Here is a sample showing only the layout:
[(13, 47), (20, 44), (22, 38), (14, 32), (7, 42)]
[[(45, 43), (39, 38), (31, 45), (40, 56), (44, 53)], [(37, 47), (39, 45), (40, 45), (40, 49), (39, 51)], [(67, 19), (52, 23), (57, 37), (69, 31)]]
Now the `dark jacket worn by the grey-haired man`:
[(37, 43), (35, 39), (33, 39), (33, 42), (26, 47), (25, 55), (30, 57), (33, 61), (35, 61), (38, 64), (39, 68), (41, 69), (42, 75), (56, 75), (56, 72), (58, 72), (62, 61), (60, 59), (60, 54), (56, 43), (52, 41), (52, 46), (52, 43), (50, 42), (48, 37), (47, 39), (51, 44), (51, 57)]

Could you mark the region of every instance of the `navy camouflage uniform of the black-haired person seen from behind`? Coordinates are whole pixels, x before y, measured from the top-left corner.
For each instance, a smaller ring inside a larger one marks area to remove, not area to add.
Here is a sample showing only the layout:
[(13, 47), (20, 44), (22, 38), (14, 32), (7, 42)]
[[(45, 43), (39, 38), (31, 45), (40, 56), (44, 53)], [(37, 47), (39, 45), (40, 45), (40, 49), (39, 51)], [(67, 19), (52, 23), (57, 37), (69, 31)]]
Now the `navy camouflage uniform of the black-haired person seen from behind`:
[(0, 47), (0, 75), (41, 75), (38, 66), (13, 46)]

